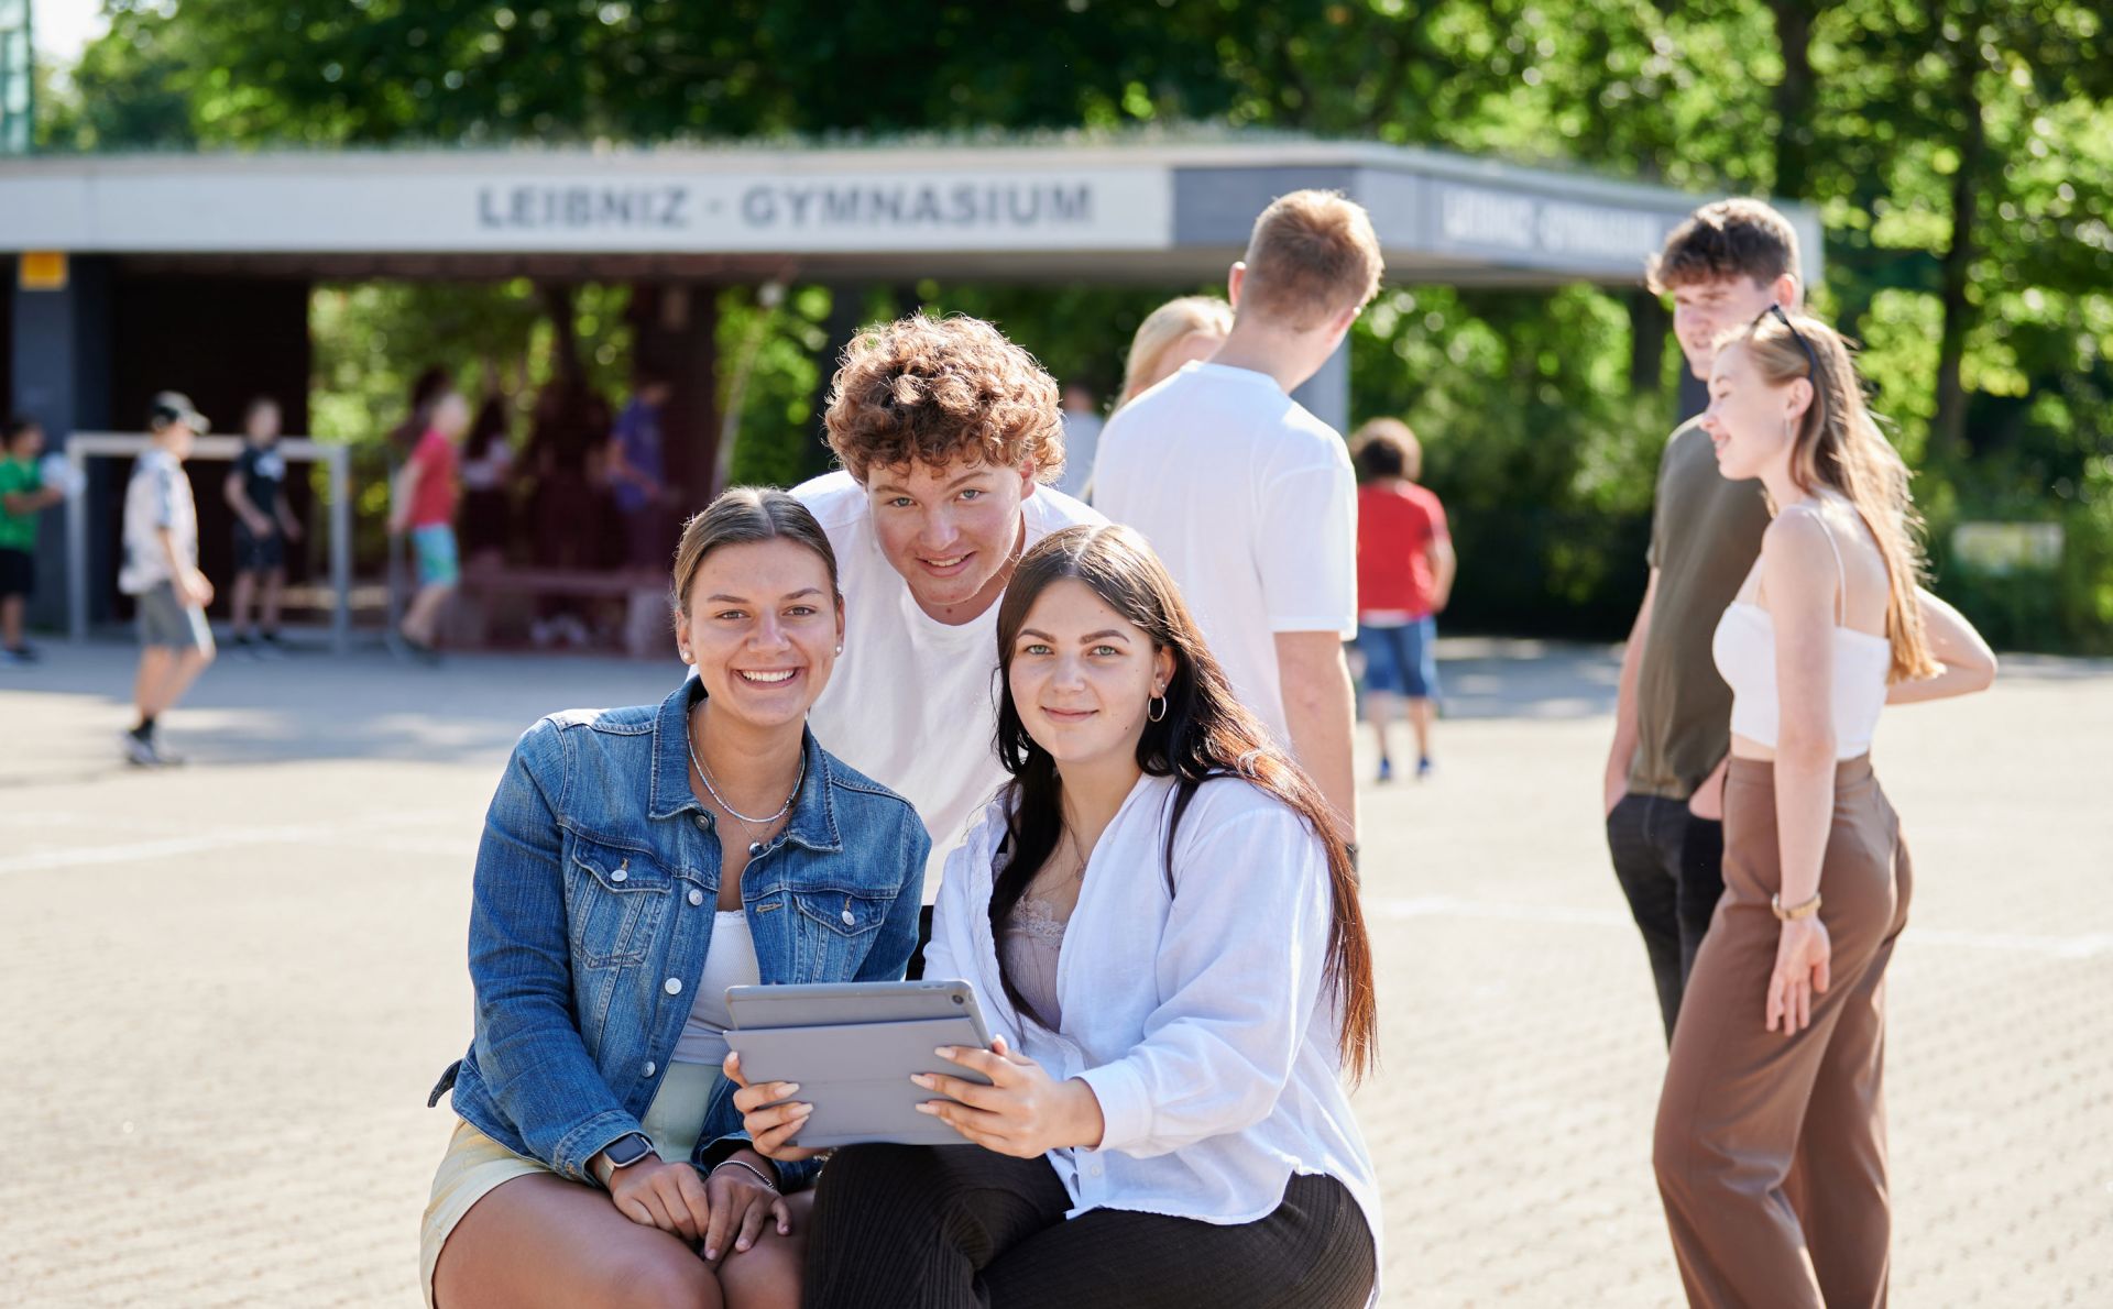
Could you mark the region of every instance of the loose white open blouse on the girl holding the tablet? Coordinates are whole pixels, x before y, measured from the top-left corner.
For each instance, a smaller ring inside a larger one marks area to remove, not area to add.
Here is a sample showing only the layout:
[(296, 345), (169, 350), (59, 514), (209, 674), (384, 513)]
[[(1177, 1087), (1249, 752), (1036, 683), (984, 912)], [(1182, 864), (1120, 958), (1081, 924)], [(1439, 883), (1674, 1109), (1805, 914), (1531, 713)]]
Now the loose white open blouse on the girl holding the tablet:
[(1173, 794), (1173, 779), (1143, 777), (1092, 849), (1056, 965), (1063, 1030), (1023, 1020), (997, 975), (1002, 802), (947, 859), (923, 975), (966, 980), (993, 1037), (1092, 1087), (1101, 1149), (1048, 1155), (1069, 1218), (1116, 1208), (1255, 1222), (1293, 1174), (1325, 1174), (1357, 1197), (1378, 1254), (1380, 1191), (1323, 982), (1333, 910), (1321, 838), (1249, 781), (1207, 781), (1181, 819), (1168, 895)]

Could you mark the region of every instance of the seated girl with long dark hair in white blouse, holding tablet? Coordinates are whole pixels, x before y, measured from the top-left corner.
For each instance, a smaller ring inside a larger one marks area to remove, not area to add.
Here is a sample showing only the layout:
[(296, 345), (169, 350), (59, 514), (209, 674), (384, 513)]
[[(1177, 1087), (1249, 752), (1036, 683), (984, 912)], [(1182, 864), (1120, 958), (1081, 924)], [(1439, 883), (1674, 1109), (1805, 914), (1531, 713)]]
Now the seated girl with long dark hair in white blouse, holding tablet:
[[(1128, 528), (1027, 551), (997, 661), (1012, 781), (925, 950), (993, 1030), (940, 1058), (993, 1085), (917, 1077), (983, 1149), (839, 1151), (805, 1303), (1365, 1305), (1378, 1187), (1340, 1075), (1371, 1064), (1371, 950), (1327, 802)], [(788, 1094), (735, 1106), (792, 1159)]]

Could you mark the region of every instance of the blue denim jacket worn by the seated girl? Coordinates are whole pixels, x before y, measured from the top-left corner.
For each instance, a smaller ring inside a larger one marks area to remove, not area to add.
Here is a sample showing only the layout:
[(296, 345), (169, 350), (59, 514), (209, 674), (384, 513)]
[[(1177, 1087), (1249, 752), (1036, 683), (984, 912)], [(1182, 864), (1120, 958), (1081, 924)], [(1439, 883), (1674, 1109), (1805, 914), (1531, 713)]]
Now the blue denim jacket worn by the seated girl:
[[(478, 1028), (431, 1102), (562, 1176), (653, 1102), (697, 999), (718, 904), (714, 819), (689, 790), (687, 680), (659, 707), (575, 709), (513, 747), (484, 817), (469, 910)], [(909, 800), (805, 735), (782, 834), (742, 872), (765, 984), (900, 978), (930, 836)], [(721, 1081), (693, 1163), (746, 1140)], [(786, 1189), (816, 1165), (780, 1165)]]

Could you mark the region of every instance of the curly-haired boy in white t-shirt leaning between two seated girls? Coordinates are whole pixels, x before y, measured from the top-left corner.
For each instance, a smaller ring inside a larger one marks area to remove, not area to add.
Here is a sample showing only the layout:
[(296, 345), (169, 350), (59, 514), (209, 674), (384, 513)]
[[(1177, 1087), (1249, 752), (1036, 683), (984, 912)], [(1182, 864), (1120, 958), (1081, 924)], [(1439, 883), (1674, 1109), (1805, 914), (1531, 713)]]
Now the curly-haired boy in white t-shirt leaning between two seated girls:
[[(792, 490), (843, 578), (843, 657), (809, 714), (824, 750), (932, 832), (925, 904), (997, 764), (997, 602), (1021, 553), (1099, 513), (1063, 473), (1056, 382), (980, 319), (868, 327), (830, 384), (841, 471)], [(913, 965), (915, 967), (915, 965)]]

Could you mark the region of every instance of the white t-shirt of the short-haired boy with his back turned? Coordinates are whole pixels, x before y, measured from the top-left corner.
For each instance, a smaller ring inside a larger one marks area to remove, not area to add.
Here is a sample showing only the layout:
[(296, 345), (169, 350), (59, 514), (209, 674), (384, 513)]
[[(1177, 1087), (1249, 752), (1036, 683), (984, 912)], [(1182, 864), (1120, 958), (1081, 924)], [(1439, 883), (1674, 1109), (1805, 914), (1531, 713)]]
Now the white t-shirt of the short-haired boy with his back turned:
[(1152, 540), (1232, 690), (1291, 745), (1278, 631), (1357, 635), (1357, 475), (1276, 378), (1188, 363), (1101, 433), (1092, 507)]

